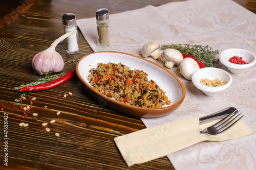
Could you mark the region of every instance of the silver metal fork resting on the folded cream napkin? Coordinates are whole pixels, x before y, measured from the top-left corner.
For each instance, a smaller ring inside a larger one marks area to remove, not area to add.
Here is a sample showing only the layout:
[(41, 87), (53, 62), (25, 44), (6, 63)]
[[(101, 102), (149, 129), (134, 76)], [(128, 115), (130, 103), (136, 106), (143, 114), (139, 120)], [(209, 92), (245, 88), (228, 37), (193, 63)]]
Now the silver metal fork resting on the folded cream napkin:
[(216, 135), (222, 134), (223, 132), (231, 128), (234, 124), (236, 124), (238, 120), (240, 120), (244, 116), (244, 115), (241, 115), (242, 112), (241, 113), (239, 112), (240, 112), (239, 110), (235, 110), (231, 112), (216, 124), (205, 128), (203, 131), (200, 131), (200, 133), (205, 133), (210, 136), (216, 136)]

